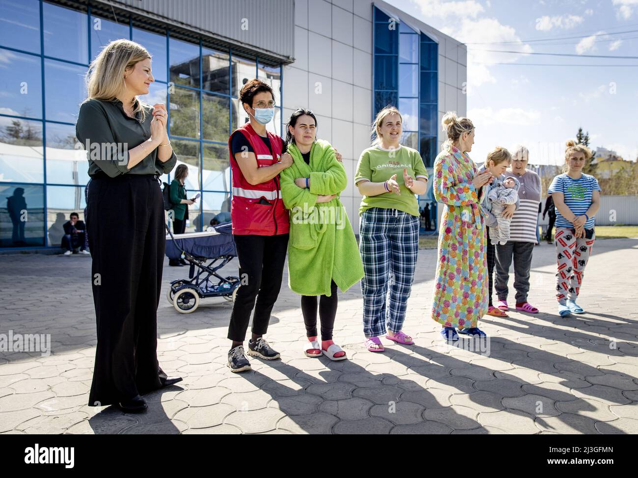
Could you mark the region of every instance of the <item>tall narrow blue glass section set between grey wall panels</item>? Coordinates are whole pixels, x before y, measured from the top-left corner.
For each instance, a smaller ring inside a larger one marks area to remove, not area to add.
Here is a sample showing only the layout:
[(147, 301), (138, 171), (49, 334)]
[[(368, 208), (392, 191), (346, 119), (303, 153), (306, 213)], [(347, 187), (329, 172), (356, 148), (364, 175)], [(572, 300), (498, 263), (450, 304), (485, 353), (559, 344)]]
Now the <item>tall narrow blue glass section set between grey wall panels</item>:
[[(403, 117), (401, 144), (417, 149), (429, 173), (437, 153), (438, 43), (374, 8), (373, 117), (394, 105)], [(432, 181), (419, 197), (421, 230), (436, 231)]]

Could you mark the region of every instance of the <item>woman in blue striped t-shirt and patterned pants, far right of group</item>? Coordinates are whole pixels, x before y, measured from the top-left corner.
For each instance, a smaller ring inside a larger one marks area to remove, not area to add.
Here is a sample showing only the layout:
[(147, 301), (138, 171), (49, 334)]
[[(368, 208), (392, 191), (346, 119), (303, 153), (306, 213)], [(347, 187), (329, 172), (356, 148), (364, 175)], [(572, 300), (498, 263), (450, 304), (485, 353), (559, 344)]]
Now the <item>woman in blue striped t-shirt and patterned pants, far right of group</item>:
[(594, 222), (600, 207), (597, 179), (582, 173), (582, 167), (591, 158), (590, 149), (574, 140), (568, 140), (566, 145), (567, 172), (554, 177), (548, 190), (556, 205), (556, 299), (561, 317), (584, 313), (576, 299), (596, 238)]

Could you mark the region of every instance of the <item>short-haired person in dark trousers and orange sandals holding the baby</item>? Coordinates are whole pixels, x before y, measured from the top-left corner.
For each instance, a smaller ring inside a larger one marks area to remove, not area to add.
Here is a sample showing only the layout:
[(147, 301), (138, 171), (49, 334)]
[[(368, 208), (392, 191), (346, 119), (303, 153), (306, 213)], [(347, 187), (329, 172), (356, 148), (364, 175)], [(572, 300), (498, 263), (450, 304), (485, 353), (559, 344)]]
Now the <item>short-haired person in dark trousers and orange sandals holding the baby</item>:
[[(494, 317), (508, 317), (507, 313), (494, 307), (492, 302), (492, 295), (494, 290), (494, 264), (496, 264), (496, 251), (495, 246), (490, 239), (492, 231), (491, 227), (496, 225), (497, 220), (494, 214), (492, 214), (491, 203), (487, 200), (489, 193), (498, 188), (498, 186), (505, 180), (505, 171), (512, 163), (512, 154), (507, 149), (501, 146), (496, 146), (492, 151), (487, 154), (485, 164), (480, 167), (479, 174), (489, 171), (494, 176), (494, 181), (487, 183), (480, 191), (484, 200), (481, 204), (483, 213), (486, 215), (486, 236), (487, 236), (487, 315)], [(511, 219), (514, 216), (514, 211), (519, 205), (519, 201), (516, 204), (508, 204), (503, 209), (503, 218)]]

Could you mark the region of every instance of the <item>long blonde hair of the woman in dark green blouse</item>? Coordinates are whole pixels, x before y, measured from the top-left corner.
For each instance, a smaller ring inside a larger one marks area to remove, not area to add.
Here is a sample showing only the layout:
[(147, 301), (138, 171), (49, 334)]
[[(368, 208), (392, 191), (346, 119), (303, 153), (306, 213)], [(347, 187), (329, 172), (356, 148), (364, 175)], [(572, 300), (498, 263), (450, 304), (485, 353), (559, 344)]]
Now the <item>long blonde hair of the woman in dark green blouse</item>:
[[(151, 58), (147, 49), (130, 40), (114, 40), (102, 49), (89, 65), (86, 73), (87, 100), (112, 101), (126, 88), (124, 72), (136, 63)], [(135, 97), (133, 114), (145, 111), (142, 102)]]

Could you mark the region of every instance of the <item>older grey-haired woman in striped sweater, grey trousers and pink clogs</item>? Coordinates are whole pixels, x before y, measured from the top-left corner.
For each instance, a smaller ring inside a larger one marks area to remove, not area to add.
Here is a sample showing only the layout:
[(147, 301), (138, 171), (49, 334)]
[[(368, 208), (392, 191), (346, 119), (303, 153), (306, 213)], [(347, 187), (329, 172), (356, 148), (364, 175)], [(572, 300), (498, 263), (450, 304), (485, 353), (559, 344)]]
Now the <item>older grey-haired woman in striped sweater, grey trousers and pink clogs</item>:
[[(516, 310), (538, 313), (527, 301), (530, 292), (531, 255), (537, 244), (538, 204), (540, 204), (540, 176), (527, 168), (530, 151), (524, 146), (516, 147), (512, 158), (511, 172), (519, 180), (519, 208), (510, 224), (510, 240), (496, 245), (496, 280), (494, 288), (498, 295), (496, 307), (507, 312), (507, 281), (510, 265), (514, 259), (514, 288), (516, 289)], [(508, 171), (510, 172), (510, 171)]]

